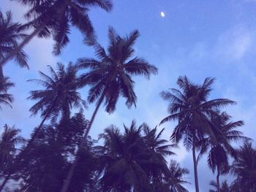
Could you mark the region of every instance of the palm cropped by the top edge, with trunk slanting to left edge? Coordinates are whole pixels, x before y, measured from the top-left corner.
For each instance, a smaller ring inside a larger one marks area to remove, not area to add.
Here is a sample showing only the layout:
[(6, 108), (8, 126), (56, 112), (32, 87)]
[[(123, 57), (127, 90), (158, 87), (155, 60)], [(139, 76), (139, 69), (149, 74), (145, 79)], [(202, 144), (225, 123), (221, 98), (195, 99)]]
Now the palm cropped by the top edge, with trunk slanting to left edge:
[(49, 37), (53, 35), (55, 45), (53, 52), (55, 54), (61, 53), (61, 48), (65, 47), (69, 42), (68, 34), (70, 33), (70, 26), (78, 28), (82, 34), (94, 41), (94, 28), (89, 19), (89, 8), (100, 7), (106, 11), (110, 11), (112, 3), (110, 0), (17, 0), (24, 5), (30, 7), (29, 12), (26, 13), (26, 18), (33, 20), (26, 24), (27, 27), (32, 26), (34, 31), (27, 36), (23, 42), (1, 60), (0, 66), (6, 63), (10, 58), (18, 54), (29, 41), (35, 37)]

